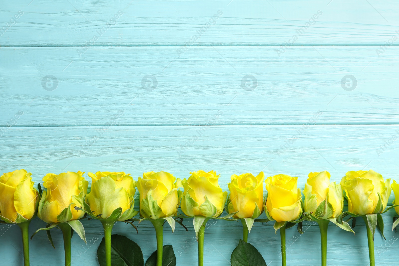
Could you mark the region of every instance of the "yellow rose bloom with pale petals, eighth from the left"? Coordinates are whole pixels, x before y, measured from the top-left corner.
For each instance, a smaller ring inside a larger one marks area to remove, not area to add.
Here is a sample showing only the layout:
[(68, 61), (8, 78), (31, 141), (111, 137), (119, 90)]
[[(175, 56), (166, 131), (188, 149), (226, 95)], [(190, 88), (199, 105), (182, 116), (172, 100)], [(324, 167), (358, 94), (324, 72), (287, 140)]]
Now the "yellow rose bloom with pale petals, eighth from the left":
[[(344, 194), (336, 182), (330, 183), (328, 171), (311, 172), (303, 191), (305, 195), (304, 211), (313, 213), (319, 219), (337, 218), (344, 209)], [(322, 203), (322, 206), (320, 204)], [(327, 204), (326, 212), (325, 205)], [(322, 211), (316, 211), (318, 207)]]

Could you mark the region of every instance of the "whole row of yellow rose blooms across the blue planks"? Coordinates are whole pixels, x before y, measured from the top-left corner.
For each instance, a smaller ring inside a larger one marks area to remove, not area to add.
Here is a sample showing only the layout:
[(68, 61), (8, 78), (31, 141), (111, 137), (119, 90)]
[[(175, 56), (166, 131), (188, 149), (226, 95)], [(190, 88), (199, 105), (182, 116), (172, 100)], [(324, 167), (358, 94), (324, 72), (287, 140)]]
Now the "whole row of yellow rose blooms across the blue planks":
[[(90, 208), (88, 211), (99, 215), (99, 218), (107, 219), (115, 209), (122, 208), (118, 220), (128, 220), (136, 215), (133, 210), (135, 187), (140, 193), (140, 215), (151, 219), (176, 215), (180, 199), (181, 209), (187, 216), (218, 217), (227, 199), (227, 192), (219, 187), (219, 175), (215, 171), (194, 171), (188, 179), (183, 180), (164, 171), (151, 171), (139, 177), (138, 182), (124, 172), (89, 172), (92, 187), (87, 195), (88, 182), (82, 174), (80, 171), (68, 171), (58, 175), (48, 173), (43, 177), (47, 191), (43, 191), (38, 204), (40, 219), (47, 223), (80, 219), (84, 213), (74, 207), (84, 206), (85, 201)], [(0, 218), (4, 221), (21, 223), (34, 216), (39, 194), (30, 175), (21, 169), (0, 177)], [(227, 211), (237, 212), (234, 217), (238, 219), (259, 217), (264, 209), (263, 180), (263, 172), (257, 176), (251, 173), (232, 175), (228, 184), (230, 195)], [(297, 177), (284, 174), (265, 180), (268, 219), (281, 222), (300, 217), (302, 196), (296, 183)], [(320, 218), (338, 217), (343, 209), (344, 190), (349, 212), (356, 215), (380, 213), (387, 205), (391, 187), (396, 201), (399, 201), (399, 185), (395, 181), (391, 186), (389, 184), (390, 179), (384, 181), (382, 175), (373, 170), (349, 171), (340, 185), (330, 183), (330, 173), (327, 171), (312, 172), (304, 189), (304, 211), (315, 214), (318, 206), (324, 202), (332, 207), (332, 213)], [(183, 193), (179, 187), (184, 187)], [(60, 215), (68, 207), (72, 216)], [(395, 207), (395, 211), (399, 214), (399, 207)]]

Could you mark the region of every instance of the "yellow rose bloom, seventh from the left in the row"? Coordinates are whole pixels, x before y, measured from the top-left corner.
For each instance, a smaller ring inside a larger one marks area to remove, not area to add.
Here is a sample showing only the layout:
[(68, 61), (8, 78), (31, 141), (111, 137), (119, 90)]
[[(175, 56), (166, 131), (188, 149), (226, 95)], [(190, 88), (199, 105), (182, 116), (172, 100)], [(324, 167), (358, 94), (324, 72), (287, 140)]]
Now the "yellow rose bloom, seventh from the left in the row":
[(298, 177), (279, 174), (267, 177), (266, 215), (277, 222), (296, 220), (302, 215), (300, 189), (296, 189)]

